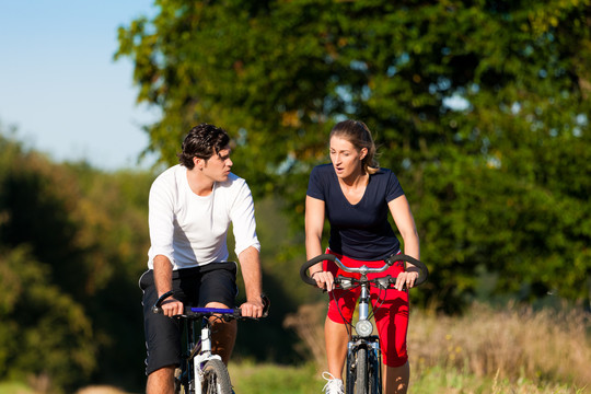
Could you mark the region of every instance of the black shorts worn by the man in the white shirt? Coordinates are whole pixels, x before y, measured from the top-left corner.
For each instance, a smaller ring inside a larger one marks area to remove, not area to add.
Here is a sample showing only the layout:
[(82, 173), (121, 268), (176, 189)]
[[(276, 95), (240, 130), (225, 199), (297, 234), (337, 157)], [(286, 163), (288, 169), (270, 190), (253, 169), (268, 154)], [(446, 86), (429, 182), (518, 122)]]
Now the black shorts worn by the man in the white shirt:
[[(143, 329), (146, 334), (146, 374), (167, 366), (181, 363), (181, 325), (176, 318), (152, 312), (158, 300), (154, 274), (143, 273), (139, 286), (143, 290)], [(236, 264), (210, 263), (195, 268), (173, 271), (174, 298), (187, 306), (205, 306), (220, 302), (235, 306), (237, 296)]]

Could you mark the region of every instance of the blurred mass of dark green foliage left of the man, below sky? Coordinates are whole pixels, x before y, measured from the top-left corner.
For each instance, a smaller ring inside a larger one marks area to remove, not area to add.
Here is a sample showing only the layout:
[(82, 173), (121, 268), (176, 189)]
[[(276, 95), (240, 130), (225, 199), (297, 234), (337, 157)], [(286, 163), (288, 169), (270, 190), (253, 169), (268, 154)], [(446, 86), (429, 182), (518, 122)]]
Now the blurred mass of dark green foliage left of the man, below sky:
[[(150, 173), (51, 163), (0, 130), (0, 371), (144, 384)], [(138, 372), (139, 371), (139, 372)]]

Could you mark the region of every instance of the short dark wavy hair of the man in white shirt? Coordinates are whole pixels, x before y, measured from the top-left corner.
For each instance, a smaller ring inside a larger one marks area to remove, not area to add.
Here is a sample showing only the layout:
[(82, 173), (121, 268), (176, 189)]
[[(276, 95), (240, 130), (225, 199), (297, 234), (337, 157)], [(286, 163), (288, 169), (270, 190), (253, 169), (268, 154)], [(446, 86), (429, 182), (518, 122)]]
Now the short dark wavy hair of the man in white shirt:
[(183, 141), (183, 151), (177, 154), (178, 162), (189, 170), (195, 163), (193, 158), (209, 160), (230, 143), (230, 137), (224, 129), (213, 125), (200, 124), (190, 129)]

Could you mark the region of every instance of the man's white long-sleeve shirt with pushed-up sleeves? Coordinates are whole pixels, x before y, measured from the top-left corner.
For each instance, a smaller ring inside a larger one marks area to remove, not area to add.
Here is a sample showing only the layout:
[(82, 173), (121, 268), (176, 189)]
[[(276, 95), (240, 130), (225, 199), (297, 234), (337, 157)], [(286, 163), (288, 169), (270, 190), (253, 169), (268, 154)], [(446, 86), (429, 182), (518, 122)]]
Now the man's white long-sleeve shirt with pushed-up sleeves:
[(185, 166), (170, 167), (150, 188), (148, 221), (151, 269), (157, 255), (167, 257), (173, 269), (228, 260), (230, 223), (236, 256), (250, 246), (260, 251), (251, 189), (232, 173), (228, 181), (215, 183), (210, 195), (201, 197), (190, 189)]

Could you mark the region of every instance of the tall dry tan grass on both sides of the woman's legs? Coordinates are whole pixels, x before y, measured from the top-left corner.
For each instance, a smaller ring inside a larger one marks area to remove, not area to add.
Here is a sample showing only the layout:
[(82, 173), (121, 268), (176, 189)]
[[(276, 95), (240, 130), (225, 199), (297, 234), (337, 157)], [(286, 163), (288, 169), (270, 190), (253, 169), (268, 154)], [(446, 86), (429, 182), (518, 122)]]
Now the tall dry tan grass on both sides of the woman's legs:
[[(286, 320), (303, 339), (318, 366), (325, 364), (324, 305), (302, 306)], [(591, 389), (590, 317), (580, 311), (534, 312), (508, 305), (496, 311), (474, 304), (463, 316), (414, 310), (408, 328), (413, 374), (431, 368), (488, 378), (507, 391), (507, 382), (556, 382)], [(322, 350), (322, 351), (318, 351)], [(519, 393), (529, 392), (523, 389)], [(533, 391), (532, 391), (533, 392)]]

